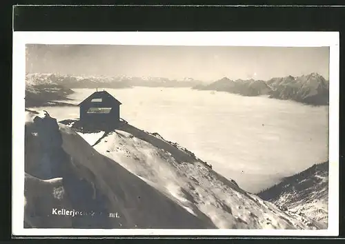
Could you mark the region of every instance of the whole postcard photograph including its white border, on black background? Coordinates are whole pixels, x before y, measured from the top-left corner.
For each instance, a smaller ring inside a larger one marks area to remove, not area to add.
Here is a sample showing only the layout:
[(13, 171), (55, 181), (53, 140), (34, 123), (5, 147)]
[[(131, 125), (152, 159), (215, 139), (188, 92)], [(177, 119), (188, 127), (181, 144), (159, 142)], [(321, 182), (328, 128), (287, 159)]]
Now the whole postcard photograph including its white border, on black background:
[(14, 36), (19, 229), (337, 233), (337, 39), (179, 34)]

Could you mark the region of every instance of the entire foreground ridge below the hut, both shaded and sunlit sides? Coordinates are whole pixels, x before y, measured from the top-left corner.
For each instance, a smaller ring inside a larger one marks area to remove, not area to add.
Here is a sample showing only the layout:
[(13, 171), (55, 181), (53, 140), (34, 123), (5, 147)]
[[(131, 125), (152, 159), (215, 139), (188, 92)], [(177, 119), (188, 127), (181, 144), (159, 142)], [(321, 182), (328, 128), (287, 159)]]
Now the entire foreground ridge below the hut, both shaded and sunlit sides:
[[(78, 133), (75, 123), (57, 123), (48, 112), (26, 115), (26, 227), (319, 227), (245, 192), (159, 134), (128, 123), (111, 132)], [(96, 215), (62, 217), (52, 208)]]

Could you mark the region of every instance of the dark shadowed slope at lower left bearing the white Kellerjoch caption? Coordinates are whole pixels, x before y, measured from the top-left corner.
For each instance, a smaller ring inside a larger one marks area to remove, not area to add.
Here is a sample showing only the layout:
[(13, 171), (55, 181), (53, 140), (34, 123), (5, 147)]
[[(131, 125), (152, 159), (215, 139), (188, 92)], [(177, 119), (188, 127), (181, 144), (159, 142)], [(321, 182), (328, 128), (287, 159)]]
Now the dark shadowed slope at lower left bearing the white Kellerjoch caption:
[(25, 143), (26, 227), (215, 228), (44, 112), (26, 112)]

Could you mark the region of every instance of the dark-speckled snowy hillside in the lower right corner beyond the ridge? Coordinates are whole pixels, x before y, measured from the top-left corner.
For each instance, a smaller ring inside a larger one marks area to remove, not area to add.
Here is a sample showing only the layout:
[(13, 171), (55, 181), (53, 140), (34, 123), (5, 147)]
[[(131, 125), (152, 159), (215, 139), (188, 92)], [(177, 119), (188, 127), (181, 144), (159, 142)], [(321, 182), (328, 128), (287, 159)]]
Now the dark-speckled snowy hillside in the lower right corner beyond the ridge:
[(328, 162), (286, 177), (259, 193), (262, 199), (275, 203), (291, 214), (310, 218), (322, 228), (328, 223)]

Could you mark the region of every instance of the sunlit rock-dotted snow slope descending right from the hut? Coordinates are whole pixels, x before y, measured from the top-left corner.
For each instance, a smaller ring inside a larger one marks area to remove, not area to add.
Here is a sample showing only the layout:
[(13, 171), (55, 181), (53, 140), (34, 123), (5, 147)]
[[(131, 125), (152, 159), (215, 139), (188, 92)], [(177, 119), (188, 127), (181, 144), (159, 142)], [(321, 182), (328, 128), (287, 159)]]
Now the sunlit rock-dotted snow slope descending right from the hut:
[[(88, 134), (79, 133), (88, 139)], [(93, 140), (95, 141), (95, 140)], [(217, 228), (314, 229), (268, 201), (245, 192), (178, 145), (124, 123), (94, 148)]]

